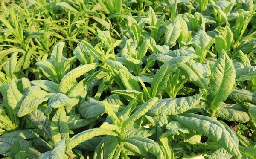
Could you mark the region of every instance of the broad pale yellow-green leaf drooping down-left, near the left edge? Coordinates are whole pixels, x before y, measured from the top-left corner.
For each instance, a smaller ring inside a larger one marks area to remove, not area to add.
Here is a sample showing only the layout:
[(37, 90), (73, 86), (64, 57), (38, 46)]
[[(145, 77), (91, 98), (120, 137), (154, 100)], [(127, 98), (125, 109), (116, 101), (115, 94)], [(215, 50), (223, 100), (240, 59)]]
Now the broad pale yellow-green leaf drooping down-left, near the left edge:
[(20, 110), (18, 111), (17, 115), (21, 117), (31, 113), (33, 110), (36, 110), (39, 104), (47, 101), (52, 97), (52, 95), (52, 93), (47, 93), (38, 89), (37, 86), (30, 87), (21, 103)]

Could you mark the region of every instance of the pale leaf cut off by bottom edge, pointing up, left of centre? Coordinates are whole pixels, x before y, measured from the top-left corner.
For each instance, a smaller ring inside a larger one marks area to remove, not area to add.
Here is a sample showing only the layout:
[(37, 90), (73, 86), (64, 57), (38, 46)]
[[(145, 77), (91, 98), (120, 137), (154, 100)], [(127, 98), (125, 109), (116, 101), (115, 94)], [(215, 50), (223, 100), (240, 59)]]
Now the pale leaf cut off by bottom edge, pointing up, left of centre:
[(65, 158), (65, 139), (59, 141), (51, 151), (42, 153), (38, 159), (64, 159)]

